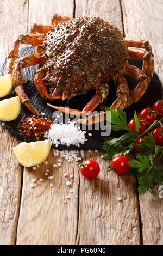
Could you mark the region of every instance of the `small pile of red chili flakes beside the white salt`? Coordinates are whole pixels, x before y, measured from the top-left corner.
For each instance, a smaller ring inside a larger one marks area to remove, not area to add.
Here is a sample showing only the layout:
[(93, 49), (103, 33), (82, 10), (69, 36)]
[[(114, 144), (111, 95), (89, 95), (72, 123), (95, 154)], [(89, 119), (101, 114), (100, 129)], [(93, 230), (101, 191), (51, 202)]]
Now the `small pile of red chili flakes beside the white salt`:
[(35, 136), (38, 141), (52, 125), (51, 120), (43, 117), (37, 117), (36, 115), (33, 115), (31, 118), (26, 118), (20, 123), (21, 133), (25, 133), (28, 137)]

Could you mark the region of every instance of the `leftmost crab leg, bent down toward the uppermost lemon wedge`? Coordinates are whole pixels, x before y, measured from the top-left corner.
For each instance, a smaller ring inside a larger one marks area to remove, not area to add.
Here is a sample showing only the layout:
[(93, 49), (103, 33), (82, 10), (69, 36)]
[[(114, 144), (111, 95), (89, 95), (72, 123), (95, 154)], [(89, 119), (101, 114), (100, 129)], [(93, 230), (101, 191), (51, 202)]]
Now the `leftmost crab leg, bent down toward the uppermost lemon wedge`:
[(18, 36), (9, 53), (5, 74), (12, 74), (15, 60), (18, 58), (18, 48), (21, 44), (42, 45), (44, 35), (26, 34)]

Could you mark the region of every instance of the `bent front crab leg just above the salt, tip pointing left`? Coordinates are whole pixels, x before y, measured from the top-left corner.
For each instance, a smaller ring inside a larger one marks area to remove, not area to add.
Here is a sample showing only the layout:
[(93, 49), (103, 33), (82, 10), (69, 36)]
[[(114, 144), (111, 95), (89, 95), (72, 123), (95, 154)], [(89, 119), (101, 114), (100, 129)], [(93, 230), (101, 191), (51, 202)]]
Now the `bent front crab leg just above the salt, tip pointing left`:
[(106, 99), (106, 97), (108, 96), (108, 93), (109, 93), (108, 84), (104, 84), (103, 86), (99, 87), (99, 90), (96, 91), (96, 95), (92, 97), (92, 99), (87, 103), (87, 105), (83, 108), (82, 111), (79, 111), (78, 109), (57, 107), (53, 105), (48, 105), (48, 106), (54, 109), (57, 109), (62, 113), (74, 114), (77, 116), (89, 115), (99, 105), (99, 103), (103, 102), (103, 100)]

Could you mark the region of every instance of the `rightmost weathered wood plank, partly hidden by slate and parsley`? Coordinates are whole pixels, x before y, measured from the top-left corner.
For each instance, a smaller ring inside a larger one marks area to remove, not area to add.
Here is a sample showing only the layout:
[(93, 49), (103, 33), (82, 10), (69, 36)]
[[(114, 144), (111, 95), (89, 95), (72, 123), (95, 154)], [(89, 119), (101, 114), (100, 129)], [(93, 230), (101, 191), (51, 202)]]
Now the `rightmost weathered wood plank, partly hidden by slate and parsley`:
[[(154, 7), (154, 8), (153, 8)], [(132, 38), (147, 39), (155, 55), (155, 72), (163, 85), (163, 3), (162, 1), (122, 0), (124, 32)], [(142, 236), (144, 245), (163, 243), (163, 199), (158, 187), (153, 193), (140, 196)]]

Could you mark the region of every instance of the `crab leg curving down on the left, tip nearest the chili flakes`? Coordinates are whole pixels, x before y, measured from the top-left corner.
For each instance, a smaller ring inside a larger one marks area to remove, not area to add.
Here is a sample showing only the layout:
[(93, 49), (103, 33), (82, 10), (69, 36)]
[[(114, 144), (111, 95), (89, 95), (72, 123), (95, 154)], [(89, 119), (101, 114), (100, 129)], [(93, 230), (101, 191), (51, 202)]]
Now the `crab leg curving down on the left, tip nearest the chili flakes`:
[(42, 58), (37, 53), (32, 53), (27, 56), (24, 56), (18, 60), (15, 60), (14, 69), (13, 69), (13, 83), (15, 92), (20, 98), (23, 105), (33, 112), (36, 115), (39, 115), (39, 112), (32, 106), (29, 98), (24, 93), (23, 85), (22, 85), (22, 74), (21, 69), (27, 68), (27, 66), (32, 66), (36, 64), (42, 63)]

